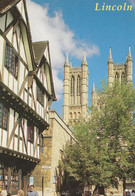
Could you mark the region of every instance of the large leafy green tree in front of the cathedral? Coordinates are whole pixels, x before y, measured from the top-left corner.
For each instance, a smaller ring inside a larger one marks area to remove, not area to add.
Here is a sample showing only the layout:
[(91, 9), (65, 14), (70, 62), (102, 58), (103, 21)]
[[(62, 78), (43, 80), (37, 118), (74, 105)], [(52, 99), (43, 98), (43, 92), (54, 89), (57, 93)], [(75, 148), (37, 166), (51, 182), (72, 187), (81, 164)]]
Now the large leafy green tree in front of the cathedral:
[(61, 165), (67, 184), (97, 189), (118, 185), (118, 179), (135, 174), (134, 134), (135, 90), (132, 85), (102, 83), (97, 104), (87, 122), (74, 127), (77, 142), (68, 143)]

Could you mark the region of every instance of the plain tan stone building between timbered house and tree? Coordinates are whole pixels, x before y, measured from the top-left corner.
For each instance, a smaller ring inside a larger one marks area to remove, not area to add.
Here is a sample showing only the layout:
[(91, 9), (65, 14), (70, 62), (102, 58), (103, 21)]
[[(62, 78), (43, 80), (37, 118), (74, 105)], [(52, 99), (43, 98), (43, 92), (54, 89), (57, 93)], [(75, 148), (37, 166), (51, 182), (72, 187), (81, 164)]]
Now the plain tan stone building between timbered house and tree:
[(59, 161), (66, 142), (75, 142), (73, 133), (55, 110), (49, 111), (49, 119), (50, 128), (43, 132), (41, 161), (32, 173), (39, 196), (60, 195), (62, 175)]

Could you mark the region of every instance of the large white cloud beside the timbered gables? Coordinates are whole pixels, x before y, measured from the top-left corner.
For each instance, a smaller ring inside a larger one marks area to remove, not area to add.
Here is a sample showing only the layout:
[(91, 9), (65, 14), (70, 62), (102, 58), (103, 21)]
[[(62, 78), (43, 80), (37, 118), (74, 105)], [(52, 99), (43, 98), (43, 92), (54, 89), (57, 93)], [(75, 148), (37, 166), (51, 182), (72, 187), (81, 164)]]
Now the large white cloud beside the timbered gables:
[(61, 98), (63, 80), (58, 77), (65, 61), (65, 52), (71, 57), (82, 59), (83, 50), (87, 58), (99, 54), (96, 45), (88, 46), (76, 40), (74, 33), (65, 24), (62, 12), (55, 12), (54, 17), (48, 14), (48, 6), (42, 7), (31, 0), (27, 0), (28, 15), (33, 41), (49, 41), (51, 62), (53, 68), (54, 87), (57, 99)]

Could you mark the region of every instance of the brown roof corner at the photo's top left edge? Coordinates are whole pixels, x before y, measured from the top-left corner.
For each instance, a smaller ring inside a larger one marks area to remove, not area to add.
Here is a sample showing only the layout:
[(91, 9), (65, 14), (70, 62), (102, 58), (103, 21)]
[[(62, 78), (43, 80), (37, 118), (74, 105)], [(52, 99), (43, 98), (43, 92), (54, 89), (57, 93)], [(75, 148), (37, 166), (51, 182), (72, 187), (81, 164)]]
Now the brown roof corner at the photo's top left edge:
[(0, 0), (0, 13), (3, 14), (20, 0)]

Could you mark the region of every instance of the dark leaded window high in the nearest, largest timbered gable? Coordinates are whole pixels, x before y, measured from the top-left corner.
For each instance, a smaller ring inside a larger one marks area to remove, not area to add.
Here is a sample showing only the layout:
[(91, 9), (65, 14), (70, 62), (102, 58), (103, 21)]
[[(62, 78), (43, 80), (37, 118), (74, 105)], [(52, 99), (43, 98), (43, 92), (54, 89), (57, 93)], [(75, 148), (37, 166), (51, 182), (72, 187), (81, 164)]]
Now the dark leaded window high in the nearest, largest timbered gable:
[(17, 78), (18, 76), (18, 57), (13, 51), (13, 47), (6, 44), (5, 49), (5, 67), (11, 72), (11, 74)]

